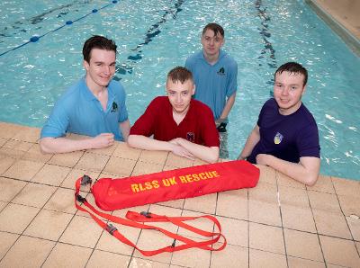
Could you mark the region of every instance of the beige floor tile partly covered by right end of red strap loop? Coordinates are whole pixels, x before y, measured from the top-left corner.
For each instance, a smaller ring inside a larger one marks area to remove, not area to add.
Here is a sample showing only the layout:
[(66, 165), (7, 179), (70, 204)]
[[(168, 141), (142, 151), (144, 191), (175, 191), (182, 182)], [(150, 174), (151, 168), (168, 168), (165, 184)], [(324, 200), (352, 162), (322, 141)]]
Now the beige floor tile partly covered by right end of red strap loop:
[(248, 246), (248, 222), (241, 219), (216, 217), (220, 221), (222, 234), (229, 245)]

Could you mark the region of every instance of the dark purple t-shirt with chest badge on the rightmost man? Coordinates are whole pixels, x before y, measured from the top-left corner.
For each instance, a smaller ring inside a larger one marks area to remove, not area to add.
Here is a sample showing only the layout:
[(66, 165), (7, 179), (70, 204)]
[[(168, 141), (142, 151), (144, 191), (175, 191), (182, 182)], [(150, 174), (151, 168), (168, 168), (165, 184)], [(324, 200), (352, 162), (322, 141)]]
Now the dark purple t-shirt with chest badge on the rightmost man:
[(256, 164), (258, 154), (268, 154), (293, 163), (302, 156), (320, 158), (319, 132), (311, 112), (302, 104), (289, 115), (282, 115), (275, 99), (268, 100), (257, 121), (260, 140), (247, 161)]

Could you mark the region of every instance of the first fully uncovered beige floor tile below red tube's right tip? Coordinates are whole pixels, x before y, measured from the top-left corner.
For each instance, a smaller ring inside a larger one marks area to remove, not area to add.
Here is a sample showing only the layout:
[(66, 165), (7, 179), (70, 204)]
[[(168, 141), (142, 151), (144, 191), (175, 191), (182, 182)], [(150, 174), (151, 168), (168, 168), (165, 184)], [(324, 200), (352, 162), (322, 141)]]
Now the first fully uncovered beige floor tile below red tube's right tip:
[(258, 223), (281, 226), (280, 208), (278, 204), (266, 201), (248, 201), (248, 219)]

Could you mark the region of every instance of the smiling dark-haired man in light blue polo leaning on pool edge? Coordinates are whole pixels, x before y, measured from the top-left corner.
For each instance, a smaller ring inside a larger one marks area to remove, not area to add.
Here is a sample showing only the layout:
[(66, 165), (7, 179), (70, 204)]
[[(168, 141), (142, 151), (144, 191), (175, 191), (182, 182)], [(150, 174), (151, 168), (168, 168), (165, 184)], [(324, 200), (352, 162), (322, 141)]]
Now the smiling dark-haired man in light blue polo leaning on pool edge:
[[(67, 153), (109, 147), (114, 140), (126, 140), (130, 122), (122, 85), (112, 80), (116, 45), (103, 36), (93, 36), (83, 48), (86, 75), (72, 85), (55, 104), (41, 130), (43, 153)], [(67, 132), (91, 138), (66, 138)]]

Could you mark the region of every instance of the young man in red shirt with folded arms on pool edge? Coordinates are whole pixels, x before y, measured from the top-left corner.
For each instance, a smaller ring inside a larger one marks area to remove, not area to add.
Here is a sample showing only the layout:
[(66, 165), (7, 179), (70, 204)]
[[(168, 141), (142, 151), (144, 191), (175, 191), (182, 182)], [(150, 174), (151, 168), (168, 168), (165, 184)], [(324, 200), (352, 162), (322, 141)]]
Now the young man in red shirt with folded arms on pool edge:
[[(132, 126), (130, 147), (171, 151), (209, 163), (218, 161), (219, 133), (211, 109), (192, 99), (192, 73), (184, 67), (172, 69), (167, 75), (166, 93), (155, 98)], [(152, 135), (154, 138), (149, 138)]]

